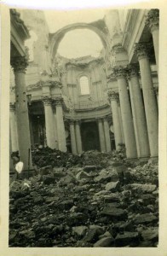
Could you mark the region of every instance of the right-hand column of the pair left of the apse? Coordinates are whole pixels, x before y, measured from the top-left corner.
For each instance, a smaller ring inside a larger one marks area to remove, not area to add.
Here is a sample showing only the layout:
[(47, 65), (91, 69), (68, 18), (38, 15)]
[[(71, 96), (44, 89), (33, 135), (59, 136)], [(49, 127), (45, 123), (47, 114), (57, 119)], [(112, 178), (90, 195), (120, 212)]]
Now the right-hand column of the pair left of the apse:
[(59, 150), (66, 152), (66, 131), (65, 124), (63, 119), (63, 110), (62, 110), (62, 98), (55, 98), (55, 109), (56, 109), (56, 120), (57, 120), (57, 137)]

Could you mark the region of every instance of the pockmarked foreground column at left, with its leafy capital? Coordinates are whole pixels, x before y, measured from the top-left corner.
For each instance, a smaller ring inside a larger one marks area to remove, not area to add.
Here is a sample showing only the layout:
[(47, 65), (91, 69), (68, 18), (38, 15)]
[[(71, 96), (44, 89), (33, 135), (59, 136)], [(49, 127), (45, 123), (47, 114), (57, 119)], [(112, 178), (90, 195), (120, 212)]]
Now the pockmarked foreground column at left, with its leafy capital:
[[(26, 101), (26, 57), (19, 56), (11, 59), (11, 65), (14, 67), (15, 78), (15, 113), (18, 127), (18, 143), (20, 161), (24, 163), (23, 171), (32, 168), (32, 153), (30, 128), (28, 119), (28, 108)], [(29, 155), (30, 152), (30, 155)]]

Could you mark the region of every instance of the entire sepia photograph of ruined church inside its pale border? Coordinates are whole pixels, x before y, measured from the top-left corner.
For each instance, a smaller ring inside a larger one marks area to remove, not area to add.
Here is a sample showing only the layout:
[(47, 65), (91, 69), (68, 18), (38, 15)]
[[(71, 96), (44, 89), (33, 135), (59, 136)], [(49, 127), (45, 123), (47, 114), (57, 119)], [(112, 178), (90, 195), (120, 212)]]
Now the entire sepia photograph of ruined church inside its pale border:
[(159, 9), (9, 14), (9, 247), (158, 247)]

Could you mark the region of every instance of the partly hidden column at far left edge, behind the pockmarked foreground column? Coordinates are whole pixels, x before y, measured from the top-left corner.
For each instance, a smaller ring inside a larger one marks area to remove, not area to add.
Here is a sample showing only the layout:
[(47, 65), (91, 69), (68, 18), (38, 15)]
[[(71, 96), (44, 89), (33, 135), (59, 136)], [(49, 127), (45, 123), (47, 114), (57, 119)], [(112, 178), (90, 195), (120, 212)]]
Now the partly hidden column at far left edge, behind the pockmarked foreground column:
[(16, 152), (19, 150), (18, 148), (18, 137), (17, 137), (17, 129), (15, 122), (15, 104), (10, 103), (10, 135), (11, 135), (11, 148), (12, 152)]

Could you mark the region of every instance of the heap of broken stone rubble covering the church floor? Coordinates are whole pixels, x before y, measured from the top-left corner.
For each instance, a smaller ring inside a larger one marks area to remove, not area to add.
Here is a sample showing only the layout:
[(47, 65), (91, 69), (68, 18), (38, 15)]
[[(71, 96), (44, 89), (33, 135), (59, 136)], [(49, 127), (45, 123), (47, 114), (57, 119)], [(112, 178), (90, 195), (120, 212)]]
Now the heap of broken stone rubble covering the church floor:
[(158, 164), (49, 148), (33, 161), (10, 184), (9, 247), (158, 246)]

